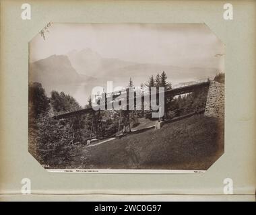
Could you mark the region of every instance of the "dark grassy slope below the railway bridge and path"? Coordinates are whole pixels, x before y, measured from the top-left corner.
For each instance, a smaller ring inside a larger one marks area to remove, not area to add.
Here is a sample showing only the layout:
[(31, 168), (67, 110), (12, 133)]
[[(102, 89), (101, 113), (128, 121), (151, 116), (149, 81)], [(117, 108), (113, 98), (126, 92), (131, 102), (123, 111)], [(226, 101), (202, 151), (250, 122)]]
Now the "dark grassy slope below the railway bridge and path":
[(224, 153), (224, 122), (193, 116), (86, 149), (91, 169), (206, 170)]

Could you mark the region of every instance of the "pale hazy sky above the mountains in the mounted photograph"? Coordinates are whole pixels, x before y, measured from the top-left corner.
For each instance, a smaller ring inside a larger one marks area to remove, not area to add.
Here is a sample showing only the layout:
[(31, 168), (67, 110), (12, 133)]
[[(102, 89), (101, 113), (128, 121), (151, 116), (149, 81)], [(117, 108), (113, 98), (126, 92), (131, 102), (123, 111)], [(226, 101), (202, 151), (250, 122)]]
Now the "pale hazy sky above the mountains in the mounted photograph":
[(205, 24), (57, 24), (30, 42), (30, 61), (91, 48), (106, 58), (216, 68), (224, 45)]

